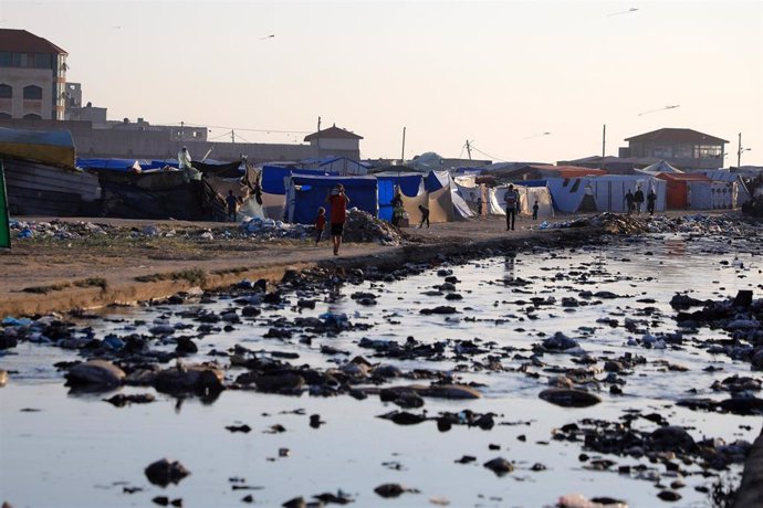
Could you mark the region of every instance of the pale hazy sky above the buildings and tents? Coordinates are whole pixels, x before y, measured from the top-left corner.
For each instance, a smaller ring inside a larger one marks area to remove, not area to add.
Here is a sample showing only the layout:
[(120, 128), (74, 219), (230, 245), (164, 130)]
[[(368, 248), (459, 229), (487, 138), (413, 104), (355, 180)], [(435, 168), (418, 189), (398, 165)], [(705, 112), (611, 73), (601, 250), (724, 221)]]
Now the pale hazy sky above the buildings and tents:
[[(108, 118), (303, 142), (554, 162), (662, 127), (763, 165), (763, 2), (0, 0), (0, 27), (69, 53)], [(272, 35), (272, 36), (271, 36)], [(667, 106), (678, 106), (667, 108)], [(547, 133), (547, 134), (546, 134)]]

